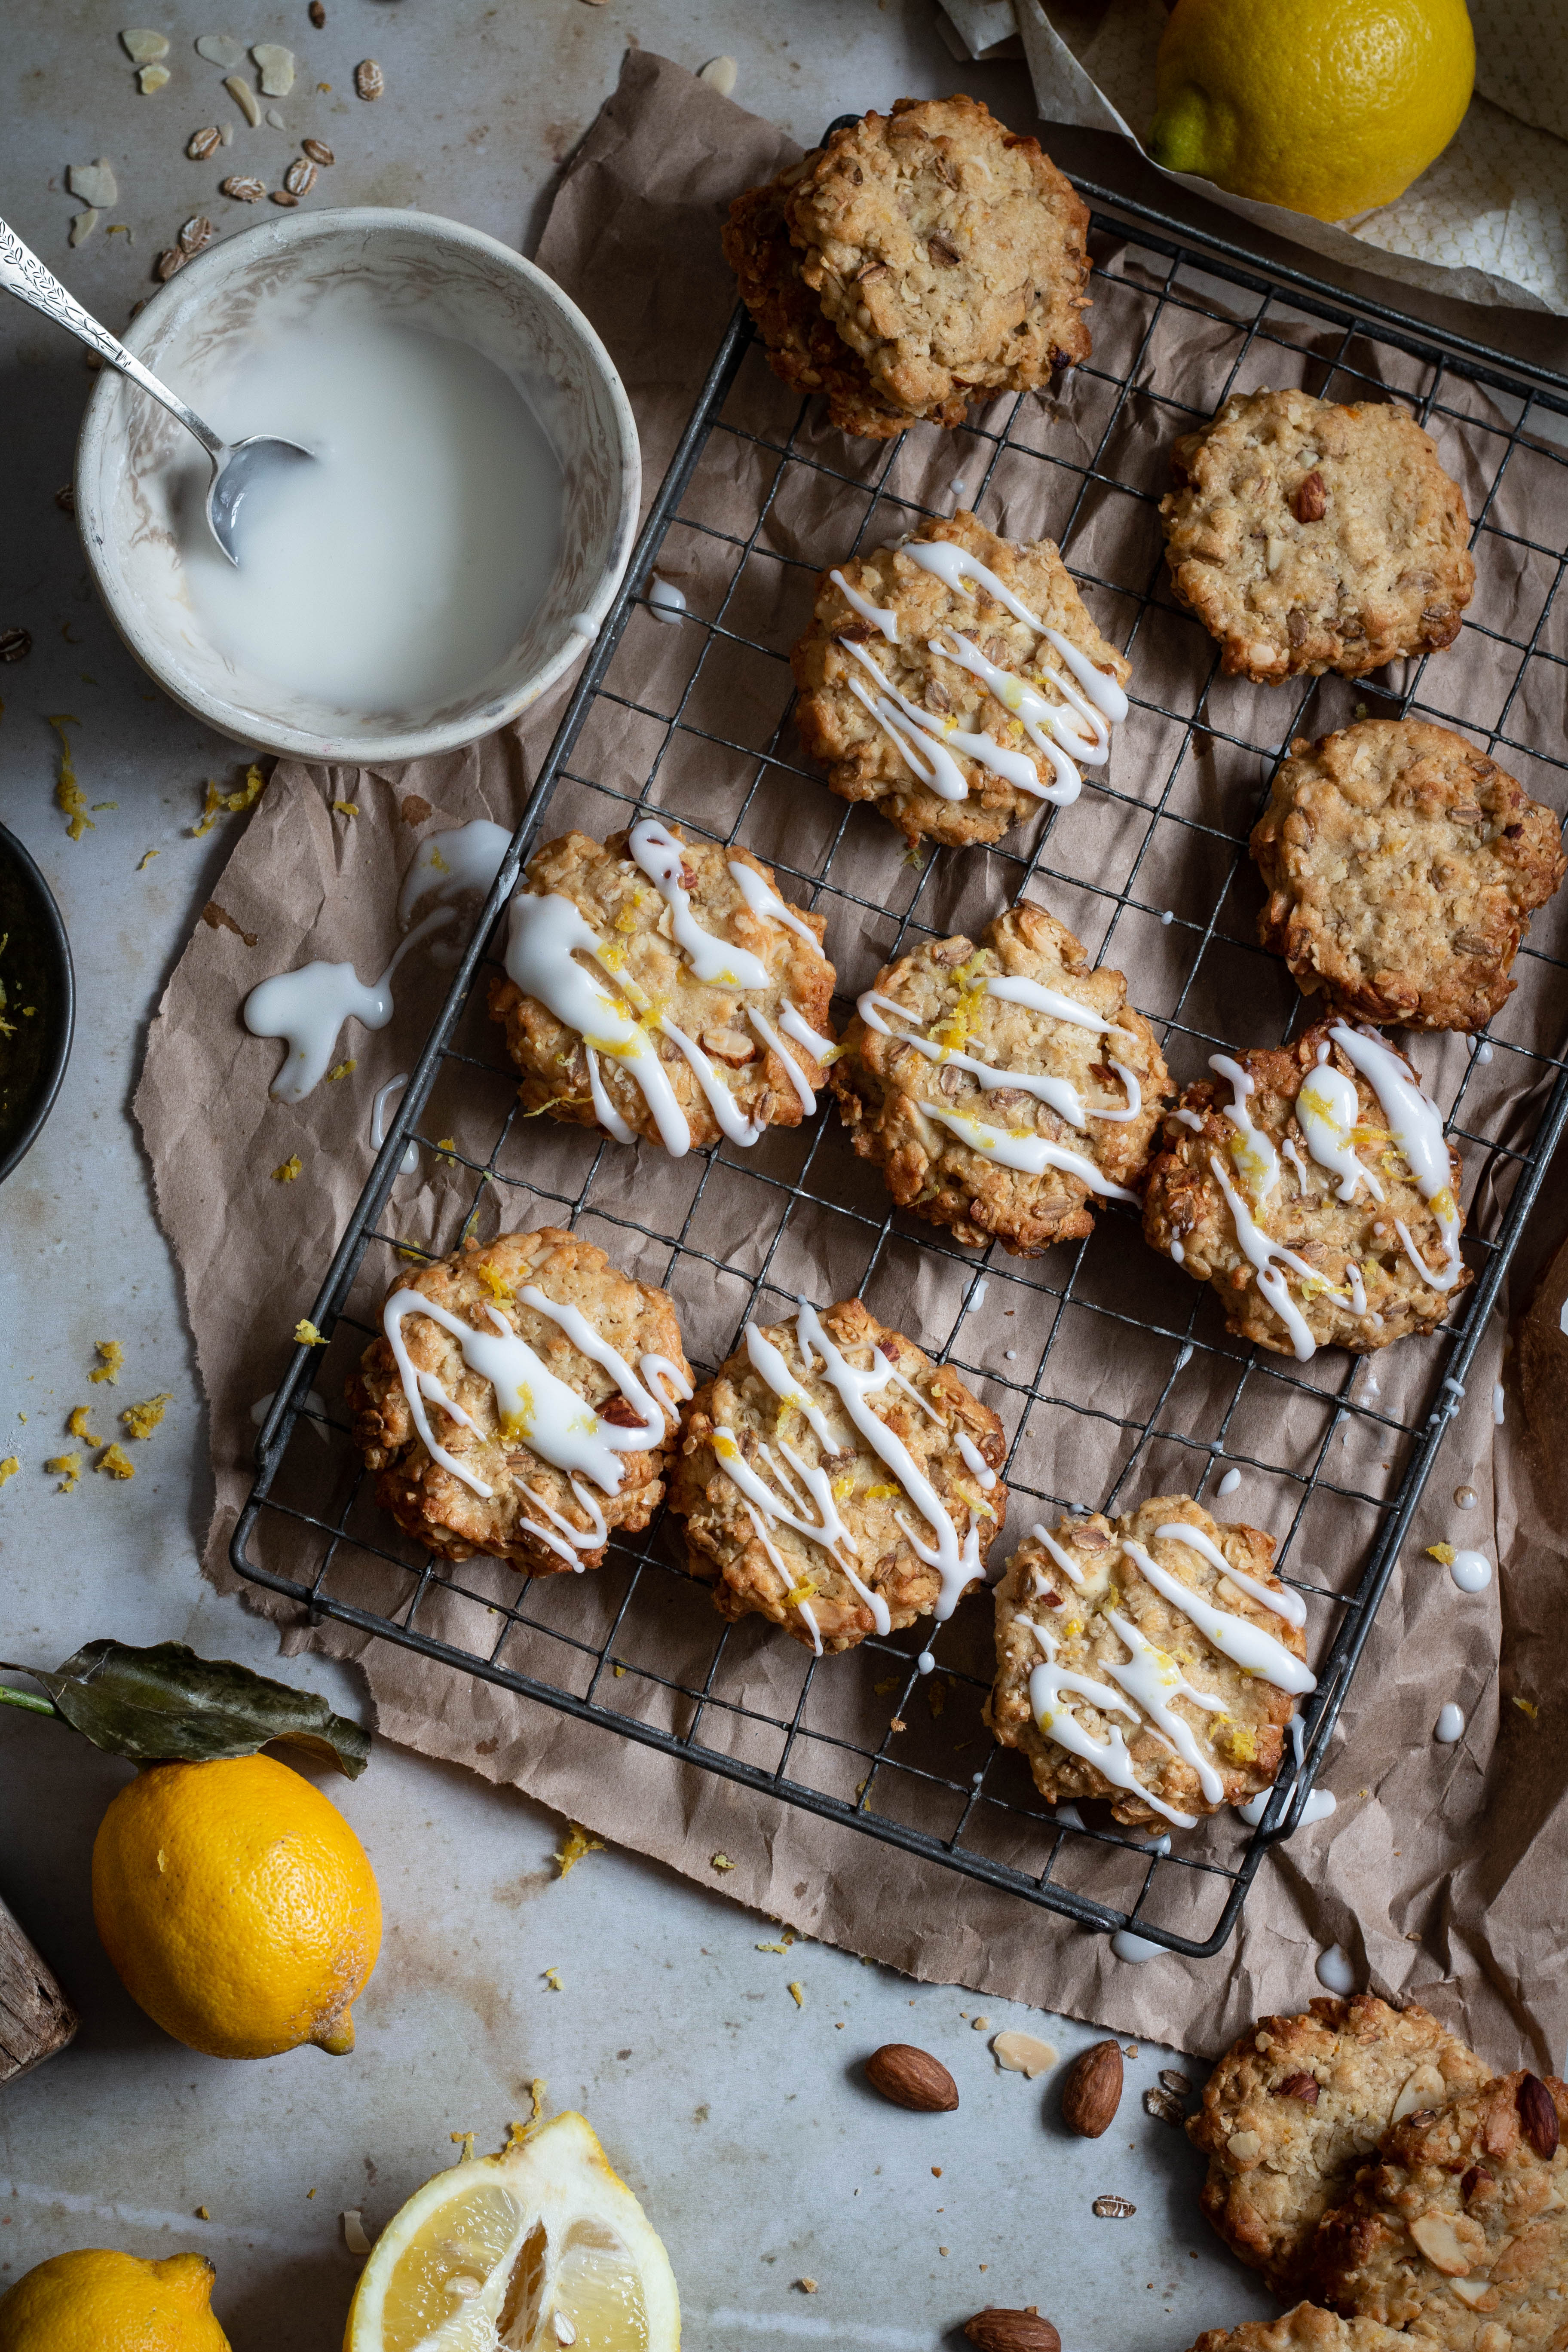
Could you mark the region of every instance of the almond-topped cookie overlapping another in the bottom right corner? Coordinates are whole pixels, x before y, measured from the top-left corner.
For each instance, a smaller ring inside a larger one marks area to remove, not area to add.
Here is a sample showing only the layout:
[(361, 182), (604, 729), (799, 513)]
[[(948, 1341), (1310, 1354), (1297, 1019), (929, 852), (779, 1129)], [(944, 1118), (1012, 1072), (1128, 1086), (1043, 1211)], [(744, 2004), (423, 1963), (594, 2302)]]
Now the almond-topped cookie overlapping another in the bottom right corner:
[(1385, 2133), (1319, 2223), (1324, 2303), (1443, 2352), (1568, 2345), (1568, 2086), (1500, 2074)]

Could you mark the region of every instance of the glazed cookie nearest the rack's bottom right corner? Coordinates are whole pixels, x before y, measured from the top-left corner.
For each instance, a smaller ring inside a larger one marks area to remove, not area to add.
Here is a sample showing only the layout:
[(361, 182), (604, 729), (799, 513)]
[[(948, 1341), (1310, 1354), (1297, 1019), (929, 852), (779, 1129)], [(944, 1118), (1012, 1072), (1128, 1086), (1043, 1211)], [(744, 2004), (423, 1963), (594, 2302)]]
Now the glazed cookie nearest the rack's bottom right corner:
[(1037, 1526), (997, 1585), (985, 1717), (1051, 1804), (1110, 1797), (1128, 1828), (1190, 1830), (1272, 1788), (1314, 1689), (1305, 1604), (1274, 1541), (1185, 1494)]

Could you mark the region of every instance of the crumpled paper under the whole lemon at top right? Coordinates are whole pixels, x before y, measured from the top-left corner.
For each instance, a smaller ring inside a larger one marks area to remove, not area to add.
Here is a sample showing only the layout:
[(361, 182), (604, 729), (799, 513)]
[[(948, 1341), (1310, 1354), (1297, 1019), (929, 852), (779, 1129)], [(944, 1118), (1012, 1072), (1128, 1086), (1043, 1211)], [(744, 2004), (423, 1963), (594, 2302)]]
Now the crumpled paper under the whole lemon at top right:
[[(1164, 0), (938, 0), (971, 56), (1020, 38), (1046, 122), (1121, 132), (1154, 115)], [(1462, 301), (1568, 315), (1568, 14), (1559, 0), (1469, 0), (1476, 94), (1394, 205), (1347, 223), (1258, 205), (1192, 172), (1182, 188), (1331, 261)]]

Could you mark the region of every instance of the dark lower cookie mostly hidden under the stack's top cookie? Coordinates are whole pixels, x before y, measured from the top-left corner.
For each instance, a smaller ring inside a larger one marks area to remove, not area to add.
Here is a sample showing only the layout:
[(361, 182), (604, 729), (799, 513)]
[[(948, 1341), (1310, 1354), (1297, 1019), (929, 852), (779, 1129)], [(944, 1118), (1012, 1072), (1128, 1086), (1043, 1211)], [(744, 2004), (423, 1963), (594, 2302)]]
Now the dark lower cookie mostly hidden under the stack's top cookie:
[[(825, 393), (827, 416), (839, 433), (889, 440), (893, 433), (907, 433), (914, 419), (872, 390), (865, 360), (823, 318), (816, 294), (799, 275), (802, 256), (790, 245), (783, 216), (788, 193), (818, 155), (820, 148), (764, 188), (748, 188), (733, 200), (722, 233), (724, 259), (736, 273), (741, 301), (752, 313), (773, 374), (802, 393)], [(926, 423), (961, 426), (969, 397), (954, 393), (952, 400), (938, 402), (926, 412)]]

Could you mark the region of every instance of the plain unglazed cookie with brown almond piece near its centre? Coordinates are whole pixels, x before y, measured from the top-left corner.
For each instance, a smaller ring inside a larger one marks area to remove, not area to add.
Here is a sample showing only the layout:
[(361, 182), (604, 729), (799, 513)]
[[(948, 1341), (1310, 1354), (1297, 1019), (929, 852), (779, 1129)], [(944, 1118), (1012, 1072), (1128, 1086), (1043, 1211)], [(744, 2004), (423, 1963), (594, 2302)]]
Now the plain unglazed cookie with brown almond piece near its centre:
[(1361, 677), (1458, 637), (1476, 583), (1465, 499), (1396, 402), (1232, 393), (1171, 473), (1171, 586), (1227, 675)]

